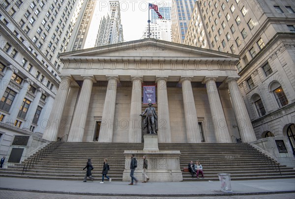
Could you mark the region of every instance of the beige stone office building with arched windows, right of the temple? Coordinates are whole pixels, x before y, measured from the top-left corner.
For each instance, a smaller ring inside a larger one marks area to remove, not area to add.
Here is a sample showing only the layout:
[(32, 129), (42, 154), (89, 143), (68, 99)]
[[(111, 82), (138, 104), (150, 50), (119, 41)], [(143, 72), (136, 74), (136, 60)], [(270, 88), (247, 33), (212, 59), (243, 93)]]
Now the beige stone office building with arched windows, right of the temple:
[(256, 137), (282, 137), (295, 152), (294, 33), (292, 0), (200, 0), (184, 44), (238, 55), (237, 82)]

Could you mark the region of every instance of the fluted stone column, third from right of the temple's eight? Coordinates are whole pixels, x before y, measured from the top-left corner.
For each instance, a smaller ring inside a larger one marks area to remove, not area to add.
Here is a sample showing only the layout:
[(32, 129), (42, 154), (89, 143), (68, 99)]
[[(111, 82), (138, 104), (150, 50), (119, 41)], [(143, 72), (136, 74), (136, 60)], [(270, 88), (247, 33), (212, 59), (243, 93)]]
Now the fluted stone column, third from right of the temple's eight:
[(202, 142), (194, 94), (190, 77), (181, 77), (180, 83), (182, 86), (183, 107), (186, 125), (187, 141), (189, 143)]

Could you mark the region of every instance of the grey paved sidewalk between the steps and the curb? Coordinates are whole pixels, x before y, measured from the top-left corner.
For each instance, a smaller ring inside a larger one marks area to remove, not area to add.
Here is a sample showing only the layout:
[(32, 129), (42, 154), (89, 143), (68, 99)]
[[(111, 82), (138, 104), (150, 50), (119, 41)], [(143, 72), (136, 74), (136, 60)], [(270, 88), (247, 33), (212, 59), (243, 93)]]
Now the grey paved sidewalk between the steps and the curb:
[(99, 182), (1, 177), (0, 190), (121, 197), (213, 197), (295, 193), (295, 178), (231, 181), (233, 193), (221, 192), (219, 181), (139, 182), (137, 185), (128, 185), (129, 182)]

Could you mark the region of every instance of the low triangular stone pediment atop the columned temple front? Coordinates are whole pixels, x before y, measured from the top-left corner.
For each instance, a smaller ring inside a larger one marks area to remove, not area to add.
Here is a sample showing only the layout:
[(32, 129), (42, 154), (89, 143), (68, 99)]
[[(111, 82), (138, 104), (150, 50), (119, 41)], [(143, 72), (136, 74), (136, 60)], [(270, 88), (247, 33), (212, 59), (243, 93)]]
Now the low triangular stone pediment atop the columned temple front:
[(238, 56), (156, 39), (142, 39), (60, 54), (61, 60), (183, 61), (227, 60)]

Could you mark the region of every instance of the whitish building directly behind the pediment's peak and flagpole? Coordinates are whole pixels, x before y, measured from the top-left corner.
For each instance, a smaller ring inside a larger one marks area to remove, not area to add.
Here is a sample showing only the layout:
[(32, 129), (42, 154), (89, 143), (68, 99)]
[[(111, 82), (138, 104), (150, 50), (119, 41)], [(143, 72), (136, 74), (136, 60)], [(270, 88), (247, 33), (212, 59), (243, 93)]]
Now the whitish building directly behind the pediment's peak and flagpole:
[[(149, 26), (150, 38), (172, 41), (171, 20), (156, 19)], [(144, 38), (148, 38), (148, 25), (144, 30)]]

